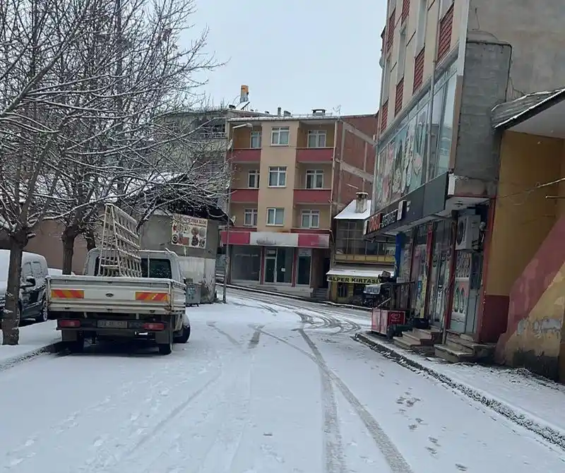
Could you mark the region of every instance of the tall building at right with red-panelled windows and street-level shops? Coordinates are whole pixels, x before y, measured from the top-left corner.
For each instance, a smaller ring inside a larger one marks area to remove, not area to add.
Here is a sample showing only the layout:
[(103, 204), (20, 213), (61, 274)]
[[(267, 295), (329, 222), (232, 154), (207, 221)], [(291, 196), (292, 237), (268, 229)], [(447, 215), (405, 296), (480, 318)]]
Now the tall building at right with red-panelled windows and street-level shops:
[(439, 337), (446, 357), (453, 353), (441, 342), (463, 351), (496, 342), (504, 330), (499, 299), (483, 284), (499, 181), (492, 109), (564, 83), (564, 8), (552, 0), (524, 5), (388, 0), (386, 6), (366, 237), (396, 236), (401, 309), (429, 323), (430, 340), (446, 334)]

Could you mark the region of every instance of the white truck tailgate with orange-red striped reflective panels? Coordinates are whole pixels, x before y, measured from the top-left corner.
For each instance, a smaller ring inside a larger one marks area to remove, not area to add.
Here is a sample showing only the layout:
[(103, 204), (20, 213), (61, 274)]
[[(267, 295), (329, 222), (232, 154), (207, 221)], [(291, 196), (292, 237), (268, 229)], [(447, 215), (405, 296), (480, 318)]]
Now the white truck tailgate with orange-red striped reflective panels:
[(57, 275), (48, 278), (47, 304), (52, 312), (172, 313), (184, 310), (184, 287), (149, 277)]

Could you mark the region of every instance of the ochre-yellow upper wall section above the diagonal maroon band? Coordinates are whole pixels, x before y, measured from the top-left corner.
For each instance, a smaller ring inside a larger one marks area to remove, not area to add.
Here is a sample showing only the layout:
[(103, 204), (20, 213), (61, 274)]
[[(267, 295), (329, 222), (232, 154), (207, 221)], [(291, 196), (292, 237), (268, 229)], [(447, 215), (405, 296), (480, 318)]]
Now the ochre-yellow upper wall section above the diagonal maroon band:
[(487, 294), (509, 295), (513, 283), (553, 227), (557, 200), (545, 196), (555, 195), (557, 186), (532, 189), (564, 175), (563, 150), (563, 141), (559, 139), (504, 134)]

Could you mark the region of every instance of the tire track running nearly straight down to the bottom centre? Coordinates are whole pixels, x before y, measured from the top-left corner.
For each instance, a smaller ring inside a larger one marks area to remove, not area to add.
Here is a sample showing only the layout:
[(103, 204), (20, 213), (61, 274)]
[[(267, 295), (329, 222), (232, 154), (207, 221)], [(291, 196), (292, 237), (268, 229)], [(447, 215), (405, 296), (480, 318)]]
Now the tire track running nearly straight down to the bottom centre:
[(316, 364), (318, 365), (321, 378), (322, 388), (322, 406), (323, 406), (323, 432), (326, 434), (326, 441), (323, 445), (324, 455), (326, 456), (326, 472), (327, 473), (346, 473), (345, 453), (343, 450), (343, 438), (341, 436), (338, 403), (335, 400), (335, 392), (330, 376), (328, 376), (328, 367), (326, 361), (323, 360), (322, 354), (314, 342), (310, 340), (304, 329), (299, 328), (298, 333), (302, 335), (304, 341), (314, 353)]

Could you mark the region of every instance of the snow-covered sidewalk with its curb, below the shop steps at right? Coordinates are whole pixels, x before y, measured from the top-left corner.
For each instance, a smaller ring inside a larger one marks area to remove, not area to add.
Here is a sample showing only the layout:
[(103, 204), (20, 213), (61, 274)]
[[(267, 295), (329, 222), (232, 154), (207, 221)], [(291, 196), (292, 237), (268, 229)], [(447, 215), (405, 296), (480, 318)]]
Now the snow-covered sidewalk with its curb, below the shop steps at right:
[(355, 339), (565, 448), (565, 412), (558, 408), (565, 405), (565, 386), (537, 378), (523, 369), (447, 364), (401, 349), (369, 333), (357, 333)]

